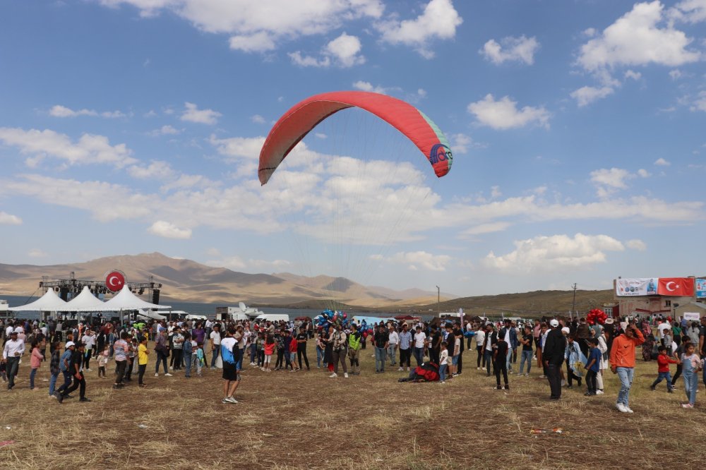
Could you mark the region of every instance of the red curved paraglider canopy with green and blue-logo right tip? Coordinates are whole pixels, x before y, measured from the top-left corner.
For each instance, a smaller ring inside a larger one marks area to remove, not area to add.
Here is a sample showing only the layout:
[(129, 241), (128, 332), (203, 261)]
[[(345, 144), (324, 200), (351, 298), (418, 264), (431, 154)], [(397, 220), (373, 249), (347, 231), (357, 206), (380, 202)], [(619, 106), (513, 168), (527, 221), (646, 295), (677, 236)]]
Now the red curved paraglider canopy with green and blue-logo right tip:
[(275, 123), (260, 152), (260, 183), (268, 182), (292, 148), (318, 123), (350, 107), (365, 109), (406, 135), (429, 159), (439, 178), (451, 169), (453, 156), (448, 140), (438, 126), (412, 104), (379, 93), (330, 92), (295, 104)]

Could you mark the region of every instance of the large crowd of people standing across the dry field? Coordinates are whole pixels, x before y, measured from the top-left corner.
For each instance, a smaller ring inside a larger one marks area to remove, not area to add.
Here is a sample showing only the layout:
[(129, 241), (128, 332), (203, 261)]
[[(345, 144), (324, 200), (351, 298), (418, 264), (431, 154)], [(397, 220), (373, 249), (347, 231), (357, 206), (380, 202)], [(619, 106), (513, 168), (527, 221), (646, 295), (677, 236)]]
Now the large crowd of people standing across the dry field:
[[(700, 357), (706, 355), (706, 318), (702, 322), (704, 325), (657, 320), (654, 335), (654, 325), (647, 320), (612, 318), (603, 324), (589, 324), (585, 318), (545, 318), (517, 325), (509, 319), (491, 322), (475, 317), (465, 318), (463, 323), (460, 319), (429, 323), (389, 320), (378, 325), (330, 322), (318, 327), (311, 320), (151, 320), (123, 325), (102, 321), (72, 322), (71, 327), (64, 327), (61, 320), (8, 320), (0, 325), (4, 337), (0, 377), (7, 382), (8, 390), (13, 390), (21, 358), (28, 355), (30, 390), (36, 390), (37, 370), (49, 361), (49, 397), (62, 403), (78, 390), (79, 401), (90, 402), (85, 373), (91, 371), (91, 360), (97, 363), (99, 379), (107, 378), (106, 371), (111, 368), (115, 390), (132, 382), (133, 375), (137, 375), (138, 387), (147, 387), (145, 374), (150, 361), (155, 364), (155, 377), (160, 376), (160, 368), (164, 376), (183, 373), (184, 378), (201, 377), (205, 369), (222, 368), (222, 402), (234, 404), (244, 361), (263, 373), (311, 370), (309, 342), (316, 346), (316, 368), (326, 370), (330, 378), (359, 375), (361, 351), (369, 343), (376, 373), (385, 373), (388, 366), (388, 370), (396, 367), (412, 376), (414, 368), (426, 363), (438, 368), (442, 384), (462, 374), (463, 353), (474, 348), (477, 370), (494, 375), (498, 390), (510, 390), (510, 377), (518, 361), (518, 377), (530, 377), (536, 363), (539, 378), (549, 382), (551, 400), (561, 399), (562, 389), (572, 389), (574, 383), (581, 388), (582, 382), (586, 396), (604, 394), (604, 376), (611, 370), (621, 382), (616, 407), (632, 413), (630, 387), (635, 348), (640, 345), (645, 361), (657, 361), (657, 378), (650, 388), (657, 390), (657, 385), (666, 380), (667, 392), (673, 392), (682, 377), (687, 396), (682, 406), (695, 405), (698, 372), (703, 370)], [(149, 341), (153, 343), (151, 348)], [(676, 364), (674, 376), (670, 364)], [(59, 378), (63, 383), (57, 387)], [(706, 371), (703, 380), (706, 383)]]

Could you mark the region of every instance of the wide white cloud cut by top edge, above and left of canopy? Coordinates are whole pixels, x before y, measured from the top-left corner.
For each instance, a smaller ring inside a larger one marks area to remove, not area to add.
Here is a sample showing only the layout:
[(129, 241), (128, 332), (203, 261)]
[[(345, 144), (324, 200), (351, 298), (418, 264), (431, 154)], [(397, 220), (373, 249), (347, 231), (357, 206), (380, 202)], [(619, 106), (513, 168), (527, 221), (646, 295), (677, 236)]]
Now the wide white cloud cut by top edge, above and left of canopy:
[(381, 18), (381, 0), (99, 0), (135, 6), (140, 16), (175, 13), (199, 30), (229, 35), (231, 49), (268, 52), (301, 36), (323, 35), (360, 18)]

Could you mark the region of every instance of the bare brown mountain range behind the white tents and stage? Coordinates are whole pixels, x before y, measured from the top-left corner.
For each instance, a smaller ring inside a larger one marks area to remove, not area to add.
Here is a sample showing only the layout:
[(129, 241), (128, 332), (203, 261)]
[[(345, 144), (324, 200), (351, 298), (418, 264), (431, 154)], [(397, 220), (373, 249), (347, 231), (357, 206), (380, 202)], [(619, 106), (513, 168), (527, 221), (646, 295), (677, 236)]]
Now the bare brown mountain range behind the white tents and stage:
[[(162, 253), (117, 255), (98, 258), (86, 263), (65, 265), (2, 265), (0, 264), (0, 296), (30, 296), (37, 292), (42, 276), (64, 279), (74, 272), (76, 279), (102, 280), (107, 272), (118, 269), (128, 282), (146, 282), (149, 276), (163, 284), (162, 299), (184, 302), (237, 303), (253, 305), (289, 306), (311, 301), (330, 306), (332, 301), (353, 306), (386, 306), (419, 297), (430, 292), (395, 291), (380, 287), (366, 287), (344, 277), (304, 277), (247, 274), (212, 267), (192, 260), (169, 258)], [(426, 300), (422, 303), (426, 303)], [(419, 305), (409, 301), (410, 305)], [(318, 307), (316, 307), (318, 308)]]

